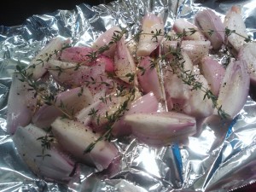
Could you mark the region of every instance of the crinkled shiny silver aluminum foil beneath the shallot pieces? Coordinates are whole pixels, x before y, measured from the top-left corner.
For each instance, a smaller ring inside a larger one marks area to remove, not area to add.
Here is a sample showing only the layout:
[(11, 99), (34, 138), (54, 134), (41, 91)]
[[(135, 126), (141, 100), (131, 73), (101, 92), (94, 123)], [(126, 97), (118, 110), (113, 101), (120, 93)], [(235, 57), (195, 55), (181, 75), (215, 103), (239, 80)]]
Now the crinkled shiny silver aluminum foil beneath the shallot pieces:
[[(256, 38), (256, 4), (241, 6), (247, 30)], [(256, 102), (248, 96), (241, 113), (230, 122), (209, 118), (187, 143), (152, 148), (132, 137), (115, 141), (121, 164), (108, 172), (80, 165), (81, 173), (68, 185), (48, 183), (35, 176), (15, 150), (6, 132), (6, 111), (11, 74), (18, 63), (28, 64), (39, 49), (57, 35), (72, 38), (73, 45), (90, 46), (111, 26), (135, 23), (137, 32), (146, 12), (160, 15), (170, 30), (178, 17), (192, 20), (200, 9), (214, 9), (221, 17), (231, 1), (123, 0), (75, 10), (32, 15), (22, 26), (0, 26), (0, 190), (1, 191), (229, 191), (256, 179)], [(118, 165), (118, 164), (117, 164)], [(118, 172), (116, 171), (118, 170)]]

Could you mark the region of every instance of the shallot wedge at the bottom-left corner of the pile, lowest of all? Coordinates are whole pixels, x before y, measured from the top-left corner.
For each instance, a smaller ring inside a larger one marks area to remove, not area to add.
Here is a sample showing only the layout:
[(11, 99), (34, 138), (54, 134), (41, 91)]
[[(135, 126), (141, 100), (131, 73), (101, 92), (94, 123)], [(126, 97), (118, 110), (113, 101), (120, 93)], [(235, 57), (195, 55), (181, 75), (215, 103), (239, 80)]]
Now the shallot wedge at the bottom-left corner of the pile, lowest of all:
[[(48, 181), (66, 183), (71, 179), (74, 161), (65, 153), (54, 137), (35, 125), (19, 126), (13, 137), (15, 147), (26, 165)], [(45, 148), (42, 150), (42, 144)]]

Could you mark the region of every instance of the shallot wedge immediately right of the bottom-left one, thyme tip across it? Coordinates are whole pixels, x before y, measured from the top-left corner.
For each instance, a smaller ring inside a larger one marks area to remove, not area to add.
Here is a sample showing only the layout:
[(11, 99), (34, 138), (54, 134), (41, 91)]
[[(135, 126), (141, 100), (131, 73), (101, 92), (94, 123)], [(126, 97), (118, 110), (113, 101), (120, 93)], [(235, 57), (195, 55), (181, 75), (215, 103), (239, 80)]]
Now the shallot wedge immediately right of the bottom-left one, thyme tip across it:
[(54, 136), (63, 148), (80, 162), (96, 166), (99, 171), (107, 169), (119, 153), (113, 143), (105, 141), (104, 138), (91, 148), (90, 153), (86, 153), (84, 150), (90, 147), (91, 143), (96, 142), (101, 135), (78, 121), (57, 118), (51, 126)]

